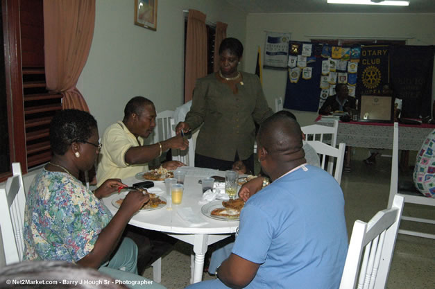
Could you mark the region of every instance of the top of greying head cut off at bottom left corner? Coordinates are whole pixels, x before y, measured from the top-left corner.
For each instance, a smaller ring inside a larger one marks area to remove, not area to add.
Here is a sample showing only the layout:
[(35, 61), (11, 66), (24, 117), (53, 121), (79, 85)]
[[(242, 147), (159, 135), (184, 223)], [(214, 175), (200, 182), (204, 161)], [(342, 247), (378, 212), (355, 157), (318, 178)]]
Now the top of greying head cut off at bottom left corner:
[(97, 270), (73, 263), (24, 261), (0, 269), (0, 289), (6, 288), (119, 289), (127, 287)]

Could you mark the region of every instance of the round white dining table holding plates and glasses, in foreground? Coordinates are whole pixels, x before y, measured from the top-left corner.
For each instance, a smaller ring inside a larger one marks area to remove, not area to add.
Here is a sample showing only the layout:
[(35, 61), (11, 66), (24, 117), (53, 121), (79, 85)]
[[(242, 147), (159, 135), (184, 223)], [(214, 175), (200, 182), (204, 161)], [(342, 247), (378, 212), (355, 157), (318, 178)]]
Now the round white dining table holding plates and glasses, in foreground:
[[(129, 224), (141, 227), (144, 229), (150, 229), (154, 231), (162, 231), (173, 238), (182, 240), (185, 243), (189, 243), (194, 246), (195, 258), (193, 267), (191, 268), (191, 283), (199, 282), (203, 279), (203, 268), (205, 252), (207, 252), (207, 246), (212, 245), (219, 240), (229, 237), (232, 233), (235, 233), (237, 227), (239, 227), (239, 221), (222, 221), (208, 218), (201, 213), (202, 205), (198, 204), (203, 195), (201, 184), (198, 184), (198, 180), (203, 177), (210, 177), (212, 175), (225, 176), (225, 172), (220, 170), (210, 170), (208, 168), (193, 168), (193, 167), (181, 167), (181, 170), (186, 170), (185, 177), (185, 190), (182, 197), (182, 203), (178, 206), (172, 205), (172, 210), (167, 210), (167, 207), (162, 209), (156, 209), (152, 211), (139, 211), (133, 218), (131, 218)], [(129, 186), (135, 182), (139, 182), (135, 177), (129, 177), (123, 179), (124, 184)], [(164, 184), (162, 182), (156, 182), (155, 186), (165, 191)], [(166, 193), (162, 196), (167, 198)], [(112, 211), (117, 212), (117, 208), (112, 205), (112, 200), (118, 199), (118, 194), (110, 195), (108, 198), (103, 198), (103, 202)], [(168, 201), (170, 201), (167, 198)], [(168, 204), (167, 204), (168, 206)], [(200, 227), (190, 227), (189, 223), (180, 218), (177, 213), (177, 209), (180, 207), (191, 207), (201, 221), (207, 222), (206, 225)]]

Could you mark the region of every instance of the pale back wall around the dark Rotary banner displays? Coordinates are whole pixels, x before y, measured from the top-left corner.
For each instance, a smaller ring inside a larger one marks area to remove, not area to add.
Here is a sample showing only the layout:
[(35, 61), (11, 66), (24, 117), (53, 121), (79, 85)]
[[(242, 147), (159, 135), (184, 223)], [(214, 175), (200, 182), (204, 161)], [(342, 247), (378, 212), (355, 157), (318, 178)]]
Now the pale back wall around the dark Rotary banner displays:
[[(264, 51), (265, 30), (291, 33), (291, 40), (309, 41), (307, 35), (349, 35), (350, 37), (412, 37), (409, 45), (435, 44), (435, 14), (327, 14), (287, 13), (252, 14), (246, 21), (244, 61), (246, 71), (255, 71), (257, 47)], [(320, 37), (317, 37), (320, 38)], [(434, 73), (435, 79), (435, 73)], [(284, 96), (287, 72), (263, 69), (263, 89), (268, 104), (274, 107), (274, 98)], [(432, 86), (432, 98), (435, 85)], [(292, 111), (301, 125), (312, 124), (315, 112)]]

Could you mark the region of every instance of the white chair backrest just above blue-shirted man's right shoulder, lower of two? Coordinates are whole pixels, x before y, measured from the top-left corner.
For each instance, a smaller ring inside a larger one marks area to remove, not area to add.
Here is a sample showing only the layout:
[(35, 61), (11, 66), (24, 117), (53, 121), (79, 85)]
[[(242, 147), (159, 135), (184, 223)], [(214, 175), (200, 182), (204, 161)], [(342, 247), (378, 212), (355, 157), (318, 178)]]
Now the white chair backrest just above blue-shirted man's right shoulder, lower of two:
[(330, 173), (340, 184), (346, 144), (340, 143), (339, 148), (334, 148), (321, 141), (307, 141), (307, 143), (318, 153), (321, 160), (321, 168)]

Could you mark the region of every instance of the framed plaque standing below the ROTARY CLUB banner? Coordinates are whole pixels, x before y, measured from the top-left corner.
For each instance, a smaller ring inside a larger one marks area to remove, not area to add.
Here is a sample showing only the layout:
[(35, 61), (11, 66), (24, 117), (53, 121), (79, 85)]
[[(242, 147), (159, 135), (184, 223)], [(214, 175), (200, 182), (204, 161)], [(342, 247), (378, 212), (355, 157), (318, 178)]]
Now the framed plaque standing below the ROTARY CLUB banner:
[(359, 121), (375, 123), (393, 122), (393, 96), (361, 95)]

